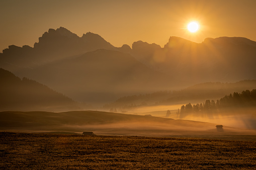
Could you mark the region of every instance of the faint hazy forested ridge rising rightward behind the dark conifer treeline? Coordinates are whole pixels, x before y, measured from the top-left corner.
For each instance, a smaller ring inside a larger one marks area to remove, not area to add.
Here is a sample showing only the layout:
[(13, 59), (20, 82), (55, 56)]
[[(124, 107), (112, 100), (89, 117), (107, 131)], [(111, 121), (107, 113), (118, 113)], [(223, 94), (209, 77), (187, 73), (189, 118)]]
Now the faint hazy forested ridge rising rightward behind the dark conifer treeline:
[(158, 91), (149, 94), (123, 96), (115, 102), (104, 105), (104, 108), (131, 109), (149, 105), (171, 105), (195, 101), (204, 102), (206, 99), (219, 99), (230, 93), (242, 92), (243, 90), (255, 89), (256, 80), (243, 80), (235, 83), (206, 82), (200, 83), (181, 90)]

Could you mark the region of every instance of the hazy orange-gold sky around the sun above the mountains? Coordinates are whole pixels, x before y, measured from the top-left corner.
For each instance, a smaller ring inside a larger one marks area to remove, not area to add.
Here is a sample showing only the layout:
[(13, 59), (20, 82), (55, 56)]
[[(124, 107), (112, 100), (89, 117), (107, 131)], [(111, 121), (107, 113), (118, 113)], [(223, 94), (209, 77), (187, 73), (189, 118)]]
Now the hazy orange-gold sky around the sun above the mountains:
[[(0, 0), (0, 52), (9, 45), (34, 45), (49, 28), (79, 37), (102, 36), (116, 47), (142, 40), (161, 47), (170, 36), (202, 42), (212, 37), (256, 41), (256, 0)], [(200, 30), (189, 33), (190, 21)]]

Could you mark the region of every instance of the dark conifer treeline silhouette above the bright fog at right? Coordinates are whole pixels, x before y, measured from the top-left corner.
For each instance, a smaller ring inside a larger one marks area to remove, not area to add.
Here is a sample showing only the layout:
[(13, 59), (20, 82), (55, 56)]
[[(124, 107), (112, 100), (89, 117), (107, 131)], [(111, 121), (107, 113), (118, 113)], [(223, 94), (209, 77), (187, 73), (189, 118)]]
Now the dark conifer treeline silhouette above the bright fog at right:
[(214, 100), (206, 100), (203, 104), (197, 103), (192, 105), (188, 103), (182, 105), (181, 110), (178, 110), (178, 114), (199, 112), (199, 111), (214, 111), (221, 108), (228, 107), (255, 107), (256, 106), (256, 89), (245, 90), (241, 93), (234, 92), (233, 94), (226, 95), (216, 102)]

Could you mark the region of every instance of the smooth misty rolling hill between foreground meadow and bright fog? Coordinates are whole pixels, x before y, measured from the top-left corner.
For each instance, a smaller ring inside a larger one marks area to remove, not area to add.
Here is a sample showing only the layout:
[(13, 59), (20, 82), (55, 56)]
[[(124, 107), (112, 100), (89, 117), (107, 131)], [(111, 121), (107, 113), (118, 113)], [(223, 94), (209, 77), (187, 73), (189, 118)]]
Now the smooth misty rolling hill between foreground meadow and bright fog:
[(0, 112), (0, 130), (20, 132), (67, 133), (93, 131), (96, 135), (198, 137), (229, 140), (255, 140), (255, 130), (191, 120), (101, 111)]

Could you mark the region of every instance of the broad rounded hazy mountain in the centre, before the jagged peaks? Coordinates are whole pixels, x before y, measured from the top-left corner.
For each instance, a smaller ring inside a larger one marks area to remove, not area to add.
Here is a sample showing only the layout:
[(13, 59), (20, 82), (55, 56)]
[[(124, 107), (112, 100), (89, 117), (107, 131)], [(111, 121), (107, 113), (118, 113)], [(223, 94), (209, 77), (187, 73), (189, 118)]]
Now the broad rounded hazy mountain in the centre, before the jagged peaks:
[(102, 103), (127, 94), (161, 90), (173, 83), (131, 55), (106, 49), (43, 65), (28, 77), (72, 99)]

